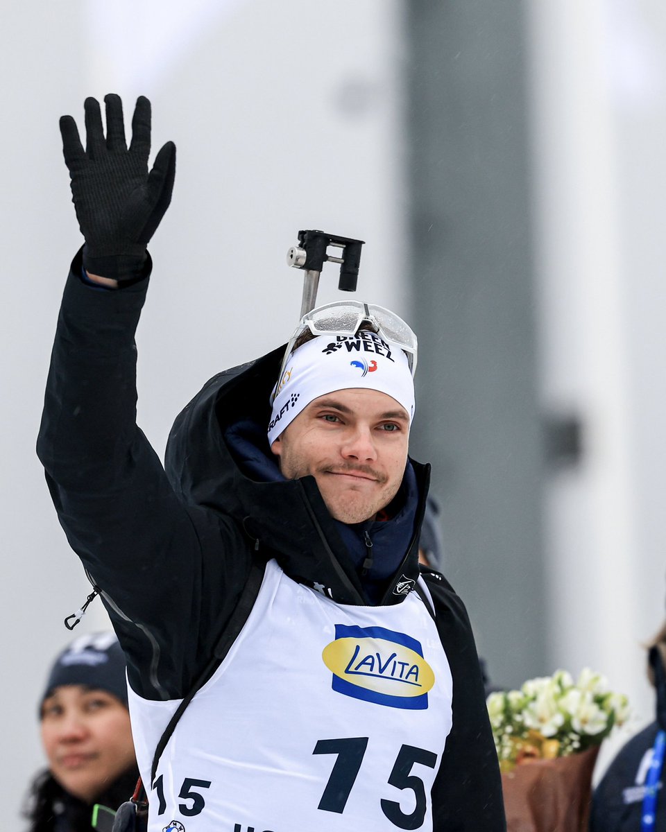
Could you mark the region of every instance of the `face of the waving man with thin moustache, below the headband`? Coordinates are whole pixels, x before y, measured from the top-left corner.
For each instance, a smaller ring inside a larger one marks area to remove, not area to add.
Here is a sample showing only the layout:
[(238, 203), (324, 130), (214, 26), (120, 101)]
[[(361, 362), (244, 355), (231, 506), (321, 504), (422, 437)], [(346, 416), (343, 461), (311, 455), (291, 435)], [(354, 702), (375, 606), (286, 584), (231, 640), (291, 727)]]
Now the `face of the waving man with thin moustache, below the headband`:
[(346, 523), (374, 518), (400, 488), (409, 417), (378, 390), (349, 389), (312, 401), (271, 445), (287, 479), (311, 474), (326, 508)]

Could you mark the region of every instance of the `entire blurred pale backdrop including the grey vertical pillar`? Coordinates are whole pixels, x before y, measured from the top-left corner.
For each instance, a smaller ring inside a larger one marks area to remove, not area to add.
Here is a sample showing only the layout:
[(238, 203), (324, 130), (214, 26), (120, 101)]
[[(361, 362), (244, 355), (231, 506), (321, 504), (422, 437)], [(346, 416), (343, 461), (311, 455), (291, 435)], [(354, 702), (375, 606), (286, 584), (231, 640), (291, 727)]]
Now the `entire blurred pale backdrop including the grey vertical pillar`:
[[(34, 443), (81, 244), (57, 120), (82, 124), (83, 99), (106, 92), (127, 116), (150, 97), (155, 149), (178, 147), (138, 335), (158, 453), (207, 378), (290, 334), (297, 230), (366, 240), (357, 296), (420, 337), (413, 455), (434, 465), (445, 572), (492, 681), (591, 666), (649, 721), (641, 645), (666, 595), (664, 44), (658, 0), (4, 4), (3, 819), (42, 765), (37, 698), (89, 591)], [(336, 287), (331, 265), (319, 300)], [(97, 601), (79, 630), (106, 626)]]

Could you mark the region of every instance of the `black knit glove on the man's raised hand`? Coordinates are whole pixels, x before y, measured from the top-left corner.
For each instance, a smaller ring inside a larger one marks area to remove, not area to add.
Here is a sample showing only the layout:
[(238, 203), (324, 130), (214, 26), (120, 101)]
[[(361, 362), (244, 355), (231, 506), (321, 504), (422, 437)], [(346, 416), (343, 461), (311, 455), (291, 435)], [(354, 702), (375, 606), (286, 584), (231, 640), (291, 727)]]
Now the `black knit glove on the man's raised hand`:
[(146, 246), (171, 202), (176, 176), (176, 145), (162, 147), (148, 173), (151, 150), (151, 102), (140, 96), (132, 118), (132, 144), (127, 150), (122, 102), (104, 98), (107, 138), (94, 98), (87, 98), (86, 150), (76, 121), (62, 116), (62, 152), (72, 178), (72, 201), (77, 210), (83, 246), (83, 268), (92, 275), (120, 282), (142, 277)]

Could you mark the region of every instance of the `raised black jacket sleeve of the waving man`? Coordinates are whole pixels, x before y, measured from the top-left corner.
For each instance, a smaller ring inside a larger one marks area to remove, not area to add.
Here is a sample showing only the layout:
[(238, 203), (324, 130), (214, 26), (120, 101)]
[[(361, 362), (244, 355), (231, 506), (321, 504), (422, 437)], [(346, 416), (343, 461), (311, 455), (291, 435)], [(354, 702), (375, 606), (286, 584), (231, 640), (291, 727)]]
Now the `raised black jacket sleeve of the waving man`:
[[(85, 285), (81, 253), (62, 299), (37, 441), (58, 518), (127, 655), (132, 687), (183, 696), (211, 653), (215, 624), (249, 572), (229, 518), (186, 507), (136, 423), (134, 334), (148, 278)], [(213, 552), (216, 557), (205, 557)], [(204, 592), (204, 588), (206, 592)]]

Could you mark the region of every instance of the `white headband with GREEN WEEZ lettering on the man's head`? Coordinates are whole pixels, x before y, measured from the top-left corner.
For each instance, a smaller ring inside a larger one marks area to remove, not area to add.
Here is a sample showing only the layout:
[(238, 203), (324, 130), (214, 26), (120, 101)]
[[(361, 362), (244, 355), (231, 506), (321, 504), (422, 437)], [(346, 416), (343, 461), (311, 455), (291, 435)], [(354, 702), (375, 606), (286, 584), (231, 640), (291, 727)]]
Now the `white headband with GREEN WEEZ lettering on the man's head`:
[(414, 379), (399, 346), (367, 329), (355, 335), (318, 335), (294, 350), (273, 388), (268, 443), (315, 399), (353, 388), (385, 393), (405, 408), (410, 423), (414, 418)]

